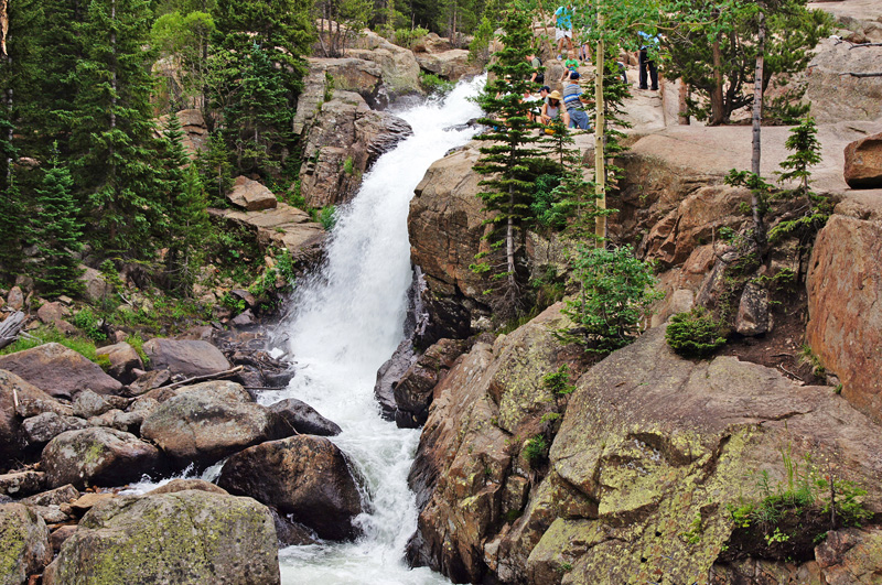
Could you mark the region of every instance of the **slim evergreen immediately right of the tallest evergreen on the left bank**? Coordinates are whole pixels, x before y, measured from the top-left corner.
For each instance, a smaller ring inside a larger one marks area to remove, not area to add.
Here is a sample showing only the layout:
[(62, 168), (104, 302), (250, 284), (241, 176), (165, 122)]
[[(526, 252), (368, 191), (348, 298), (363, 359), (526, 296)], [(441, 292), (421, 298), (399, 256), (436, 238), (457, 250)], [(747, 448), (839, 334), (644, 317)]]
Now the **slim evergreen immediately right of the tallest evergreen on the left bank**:
[(162, 245), (168, 249), (165, 275), (169, 288), (178, 294), (189, 295), (202, 259), (200, 250), (208, 232), (208, 214), (202, 180), (186, 155), (183, 136), (178, 116), (169, 116), (161, 149), (166, 167)]

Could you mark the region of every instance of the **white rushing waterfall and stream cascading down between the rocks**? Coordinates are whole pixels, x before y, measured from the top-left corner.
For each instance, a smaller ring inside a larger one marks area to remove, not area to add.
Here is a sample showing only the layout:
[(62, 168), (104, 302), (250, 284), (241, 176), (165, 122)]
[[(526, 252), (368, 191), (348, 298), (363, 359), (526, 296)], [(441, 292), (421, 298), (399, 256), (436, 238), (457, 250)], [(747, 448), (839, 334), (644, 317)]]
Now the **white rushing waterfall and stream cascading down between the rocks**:
[(281, 326), (297, 372), (286, 390), (267, 392), (260, 402), (297, 398), (336, 422), (343, 433), (332, 441), (363, 476), (369, 509), (357, 519), (363, 535), (355, 542), (280, 551), (284, 584), (449, 583), (428, 568), (408, 568), (404, 559), (417, 527), (407, 474), (419, 431), (380, 418), (374, 383), (377, 369), (404, 338), (412, 278), (410, 198), (429, 165), (474, 134), (450, 127), (481, 113), (467, 99), (481, 83), (460, 84), (443, 102), (397, 112), (413, 136), (380, 156), (355, 199), (340, 209), (321, 278), (299, 286), (295, 314)]

